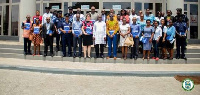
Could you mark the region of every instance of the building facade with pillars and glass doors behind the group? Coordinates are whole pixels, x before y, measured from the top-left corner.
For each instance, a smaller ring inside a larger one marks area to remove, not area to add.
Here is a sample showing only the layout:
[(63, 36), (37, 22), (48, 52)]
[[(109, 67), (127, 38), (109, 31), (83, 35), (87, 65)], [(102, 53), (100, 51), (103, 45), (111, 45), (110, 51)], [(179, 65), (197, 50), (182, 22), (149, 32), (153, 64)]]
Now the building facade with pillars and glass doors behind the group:
[(115, 13), (121, 9), (135, 9), (136, 13), (149, 8), (152, 14), (157, 11), (166, 13), (170, 9), (173, 16), (176, 15), (176, 8), (182, 8), (183, 13), (189, 18), (190, 32), (188, 39), (200, 39), (200, 0), (0, 0), (0, 38), (22, 40), (21, 22), (26, 19), (26, 15), (35, 15), (39, 10), (42, 15), (45, 7), (62, 10), (63, 14), (68, 12), (68, 7), (72, 6), (76, 13), (76, 8), (82, 8), (82, 13), (90, 11), (91, 6), (96, 7), (98, 13), (102, 9), (109, 12), (111, 8)]

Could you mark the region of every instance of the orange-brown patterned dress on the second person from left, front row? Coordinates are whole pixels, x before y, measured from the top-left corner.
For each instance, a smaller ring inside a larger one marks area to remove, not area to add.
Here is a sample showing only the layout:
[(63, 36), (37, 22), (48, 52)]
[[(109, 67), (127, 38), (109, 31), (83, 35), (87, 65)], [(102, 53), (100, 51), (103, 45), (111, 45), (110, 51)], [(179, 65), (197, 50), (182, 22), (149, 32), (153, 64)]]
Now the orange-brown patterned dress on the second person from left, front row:
[(40, 33), (39, 34), (34, 33), (34, 28), (37, 28), (37, 27), (39, 27), (39, 30), (40, 30), (41, 24), (39, 24), (39, 25), (33, 24), (33, 40), (32, 40), (32, 42), (35, 45), (40, 45), (42, 43), (41, 34)]

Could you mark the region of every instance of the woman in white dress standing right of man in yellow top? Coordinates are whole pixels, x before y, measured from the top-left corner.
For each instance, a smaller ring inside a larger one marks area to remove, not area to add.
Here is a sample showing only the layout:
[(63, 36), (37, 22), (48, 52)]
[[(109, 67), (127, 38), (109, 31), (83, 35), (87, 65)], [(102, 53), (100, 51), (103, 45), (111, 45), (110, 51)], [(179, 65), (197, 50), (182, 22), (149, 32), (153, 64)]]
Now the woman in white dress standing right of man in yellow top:
[(128, 46), (124, 44), (126, 38), (128, 37), (128, 34), (130, 33), (130, 25), (126, 24), (126, 18), (122, 19), (123, 24), (120, 25), (120, 46), (122, 47), (122, 58), (126, 60), (127, 58), (127, 52), (128, 52)]

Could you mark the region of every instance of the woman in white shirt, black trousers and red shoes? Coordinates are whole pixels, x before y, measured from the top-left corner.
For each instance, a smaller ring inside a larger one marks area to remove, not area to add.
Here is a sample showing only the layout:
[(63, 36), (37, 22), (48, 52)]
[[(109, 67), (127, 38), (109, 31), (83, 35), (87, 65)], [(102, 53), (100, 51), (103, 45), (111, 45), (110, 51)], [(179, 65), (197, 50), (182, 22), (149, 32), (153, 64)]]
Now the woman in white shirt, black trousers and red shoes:
[(159, 27), (159, 21), (154, 21), (154, 37), (153, 37), (153, 47), (154, 47), (154, 57), (156, 61), (159, 60), (159, 41), (160, 37), (162, 37), (162, 29)]

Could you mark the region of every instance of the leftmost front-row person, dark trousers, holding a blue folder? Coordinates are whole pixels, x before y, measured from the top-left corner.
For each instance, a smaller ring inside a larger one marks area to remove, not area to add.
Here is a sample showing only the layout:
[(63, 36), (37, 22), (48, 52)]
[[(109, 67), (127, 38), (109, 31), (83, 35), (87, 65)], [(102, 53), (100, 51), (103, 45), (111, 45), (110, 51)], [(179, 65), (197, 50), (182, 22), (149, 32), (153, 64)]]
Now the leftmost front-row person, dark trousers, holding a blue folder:
[[(30, 19), (30, 15), (26, 16), (26, 20), (22, 22), (21, 28), (23, 29), (23, 35), (24, 38), (24, 55), (32, 55), (31, 53), (31, 40), (29, 39), (29, 36), (31, 34), (31, 28), (32, 28), (32, 21)], [(28, 44), (28, 46), (27, 46)], [(28, 49), (28, 52), (27, 52)]]

